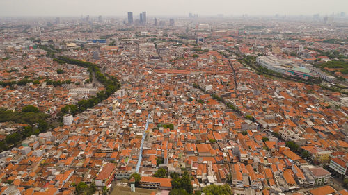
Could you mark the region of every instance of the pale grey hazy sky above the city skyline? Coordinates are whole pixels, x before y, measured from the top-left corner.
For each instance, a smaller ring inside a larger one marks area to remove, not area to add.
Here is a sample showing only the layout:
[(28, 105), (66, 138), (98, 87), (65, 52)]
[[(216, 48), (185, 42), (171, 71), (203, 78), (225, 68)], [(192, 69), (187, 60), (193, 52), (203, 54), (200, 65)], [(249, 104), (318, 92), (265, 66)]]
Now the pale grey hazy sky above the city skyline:
[(0, 0), (0, 16), (116, 15), (330, 15), (348, 0)]

